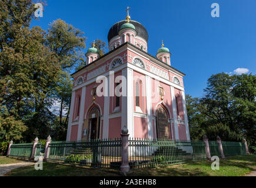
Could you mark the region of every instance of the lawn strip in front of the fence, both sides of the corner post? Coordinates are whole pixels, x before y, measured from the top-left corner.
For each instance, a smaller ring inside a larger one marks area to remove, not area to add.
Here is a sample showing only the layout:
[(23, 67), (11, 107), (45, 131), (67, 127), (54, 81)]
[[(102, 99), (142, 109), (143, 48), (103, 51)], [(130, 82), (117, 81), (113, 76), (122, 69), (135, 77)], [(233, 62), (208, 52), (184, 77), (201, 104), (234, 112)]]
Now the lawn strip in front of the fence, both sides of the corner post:
[[(210, 161), (132, 170), (129, 176), (243, 176), (256, 167), (256, 155), (231, 156), (220, 160), (220, 170), (211, 170)], [(119, 176), (107, 169), (89, 169), (71, 164), (44, 163), (44, 170), (34, 166), (12, 170), (8, 176)]]

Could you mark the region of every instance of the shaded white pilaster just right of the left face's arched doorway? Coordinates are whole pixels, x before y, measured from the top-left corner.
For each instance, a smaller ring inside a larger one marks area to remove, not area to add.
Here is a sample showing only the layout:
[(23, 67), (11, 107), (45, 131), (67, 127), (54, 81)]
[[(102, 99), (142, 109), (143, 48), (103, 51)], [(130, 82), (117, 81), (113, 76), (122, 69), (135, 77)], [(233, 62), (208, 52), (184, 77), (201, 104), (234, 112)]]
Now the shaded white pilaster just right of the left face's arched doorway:
[[(104, 93), (104, 114), (103, 114), (103, 132), (102, 132), (102, 139), (108, 138), (108, 117), (109, 117), (109, 76), (107, 76), (107, 80), (105, 82), (105, 93)], [(107, 88), (107, 89), (106, 89)]]

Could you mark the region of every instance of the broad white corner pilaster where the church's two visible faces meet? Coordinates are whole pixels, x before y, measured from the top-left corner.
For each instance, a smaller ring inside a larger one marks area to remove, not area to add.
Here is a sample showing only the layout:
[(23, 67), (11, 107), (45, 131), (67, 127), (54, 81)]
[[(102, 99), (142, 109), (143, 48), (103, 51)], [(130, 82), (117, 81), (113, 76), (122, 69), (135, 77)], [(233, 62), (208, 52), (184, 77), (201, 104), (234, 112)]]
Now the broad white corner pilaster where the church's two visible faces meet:
[[(127, 126), (128, 134), (130, 137), (134, 137), (134, 82), (133, 82), (133, 70), (125, 68), (122, 70), (122, 76), (127, 78), (127, 96), (122, 96), (122, 119), (121, 127)], [(125, 95), (126, 93), (122, 93)]]

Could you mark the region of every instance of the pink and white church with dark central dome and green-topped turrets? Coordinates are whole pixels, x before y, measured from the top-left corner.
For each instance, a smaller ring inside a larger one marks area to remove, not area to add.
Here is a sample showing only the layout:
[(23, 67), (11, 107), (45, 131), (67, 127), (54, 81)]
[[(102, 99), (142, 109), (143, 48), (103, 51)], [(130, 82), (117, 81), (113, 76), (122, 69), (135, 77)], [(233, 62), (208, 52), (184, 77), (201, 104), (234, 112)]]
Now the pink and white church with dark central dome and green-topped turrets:
[(148, 32), (129, 13), (109, 29), (108, 45), (102, 56), (88, 48), (87, 65), (72, 74), (67, 141), (120, 137), (124, 126), (129, 137), (190, 140), (185, 74), (169, 49), (150, 55)]

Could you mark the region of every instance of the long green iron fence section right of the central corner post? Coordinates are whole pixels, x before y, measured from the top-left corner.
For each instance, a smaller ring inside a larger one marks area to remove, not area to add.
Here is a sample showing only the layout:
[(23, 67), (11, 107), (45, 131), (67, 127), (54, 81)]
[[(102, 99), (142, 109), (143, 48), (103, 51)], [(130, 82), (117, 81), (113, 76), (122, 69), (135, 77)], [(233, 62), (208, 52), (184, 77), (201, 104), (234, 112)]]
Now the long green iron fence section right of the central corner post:
[(203, 141), (129, 139), (131, 169), (197, 162), (207, 159)]

